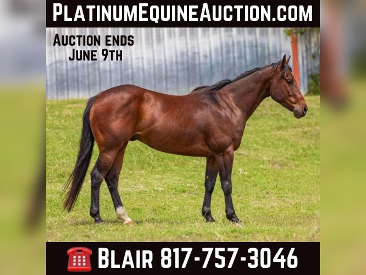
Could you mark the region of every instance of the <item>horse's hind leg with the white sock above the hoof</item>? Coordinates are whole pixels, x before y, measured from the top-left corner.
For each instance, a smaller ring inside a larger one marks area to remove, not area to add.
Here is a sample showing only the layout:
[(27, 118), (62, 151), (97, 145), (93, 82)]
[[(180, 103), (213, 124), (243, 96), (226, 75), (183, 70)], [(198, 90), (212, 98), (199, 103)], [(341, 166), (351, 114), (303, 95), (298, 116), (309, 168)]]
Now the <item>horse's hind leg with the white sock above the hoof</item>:
[(128, 217), (126, 210), (124, 210), (120, 195), (118, 193), (118, 179), (122, 169), (123, 156), (127, 147), (127, 143), (128, 142), (123, 144), (122, 148), (120, 148), (118, 151), (111, 169), (109, 169), (107, 175), (105, 175), (105, 181), (107, 182), (109, 192), (111, 193), (117, 219), (123, 220), (125, 224), (132, 224), (133, 222), (130, 217)]

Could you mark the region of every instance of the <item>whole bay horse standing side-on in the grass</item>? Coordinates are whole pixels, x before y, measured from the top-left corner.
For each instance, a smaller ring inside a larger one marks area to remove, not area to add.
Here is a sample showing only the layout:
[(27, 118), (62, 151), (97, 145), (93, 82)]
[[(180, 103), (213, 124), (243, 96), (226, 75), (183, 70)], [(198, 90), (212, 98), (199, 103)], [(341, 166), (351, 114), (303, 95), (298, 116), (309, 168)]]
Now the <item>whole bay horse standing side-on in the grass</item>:
[(83, 115), (79, 153), (64, 191), (64, 208), (70, 212), (81, 190), (94, 140), (99, 156), (91, 171), (90, 216), (96, 223), (99, 190), (107, 182), (117, 219), (131, 224), (118, 193), (118, 180), (128, 142), (139, 140), (165, 153), (206, 158), (205, 197), (202, 215), (214, 222), (211, 194), (217, 174), (225, 197), (226, 217), (234, 223), (231, 198), (231, 172), (234, 151), (240, 146), (246, 121), (266, 97), (294, 113), (296, 118), (308, 110), (288, 65), (290, 57), (245, 72), (234, 80), (201, 86), (187, 95), (167, 95), (134, 85), (121, 85), (89, 99)]

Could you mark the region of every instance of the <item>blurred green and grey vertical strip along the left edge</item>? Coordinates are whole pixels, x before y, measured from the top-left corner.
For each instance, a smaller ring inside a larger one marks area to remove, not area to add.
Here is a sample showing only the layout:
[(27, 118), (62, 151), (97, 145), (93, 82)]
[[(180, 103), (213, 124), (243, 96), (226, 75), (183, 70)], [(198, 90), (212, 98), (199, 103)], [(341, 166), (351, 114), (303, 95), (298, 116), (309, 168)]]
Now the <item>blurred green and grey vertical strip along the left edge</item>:
[(0, 2), (0, 274), (45, 274), (45, 2)]

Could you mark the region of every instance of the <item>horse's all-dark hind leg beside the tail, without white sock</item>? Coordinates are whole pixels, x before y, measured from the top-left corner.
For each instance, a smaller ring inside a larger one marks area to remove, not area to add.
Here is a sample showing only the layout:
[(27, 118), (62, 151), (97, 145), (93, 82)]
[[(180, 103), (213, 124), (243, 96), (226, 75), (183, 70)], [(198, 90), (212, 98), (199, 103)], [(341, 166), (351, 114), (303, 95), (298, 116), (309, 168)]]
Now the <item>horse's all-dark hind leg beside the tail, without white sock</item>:
[[(118, 149), (117, 149), (118, 150)], [(111, 168), (117, 150), (103, 151), (99, 153), (97, 162), (91, 170), (91, 200), (90, 200), (90, 216), (92, 216), (96, 223), (101, 223), (103, 220), (99, 214), (99, 191), (100, 185), (104, 179), (105, 174)]]

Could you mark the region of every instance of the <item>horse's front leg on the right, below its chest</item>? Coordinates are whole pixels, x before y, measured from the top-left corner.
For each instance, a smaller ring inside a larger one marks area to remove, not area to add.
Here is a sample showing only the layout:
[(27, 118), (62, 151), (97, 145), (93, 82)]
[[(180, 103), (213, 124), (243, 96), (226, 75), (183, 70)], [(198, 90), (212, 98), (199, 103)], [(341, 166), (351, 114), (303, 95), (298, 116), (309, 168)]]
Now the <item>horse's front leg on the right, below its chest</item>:
[(231, 172), (232, 172), (232, 164), (234, 162), (233, 148), (230, 147), (223, 153), (217, 154), (215, 156), (215, 159), (219, 168), (221, 188), (223, 189), (225, 195), (226, 217), (234, 223), (239, 223), (240, 220), (235, 214), (234, 205), (232, 203), (231, 198), (231, 191), (232, 191)]

